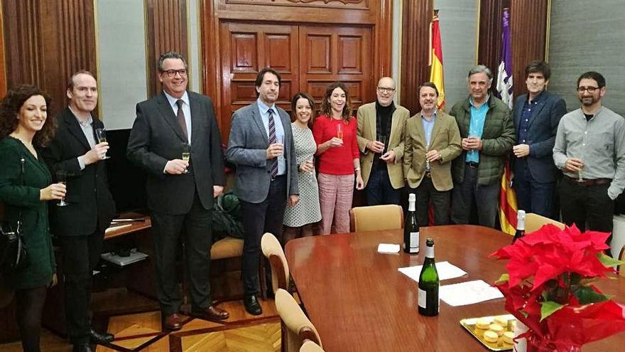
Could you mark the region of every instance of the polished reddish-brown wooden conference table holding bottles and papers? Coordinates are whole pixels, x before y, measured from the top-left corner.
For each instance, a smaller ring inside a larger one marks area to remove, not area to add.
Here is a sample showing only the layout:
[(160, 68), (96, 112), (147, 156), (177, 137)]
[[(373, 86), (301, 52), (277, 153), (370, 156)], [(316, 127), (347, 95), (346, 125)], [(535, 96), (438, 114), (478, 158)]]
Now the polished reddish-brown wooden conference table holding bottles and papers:
[[(474, 225), (421, 228), (435, 240), (435, 259), (468, 272), (441, 284), (482, 279), (495, 282), (504, 272), (504, 260), (488, 258), (508, 245), (511, 237)], [(504, 299), (467, 306), (440, 301), (440, 314), (420, 316), (417, 283), (399, 267), (423, 264), (418, 255), (379, 254), (379, 243), (401, 243), (401, 230), (298, 238), (286, 245), (290, 274), (305, 309), (327, 352), (366, 351), (487, 351), (462, 326), (460, 319), (506, 314)], [(599, 289), (625, 302), (625, 279), (600, 280)], [(625, 334), (590, 343), (583, 351), (620, 351)]]

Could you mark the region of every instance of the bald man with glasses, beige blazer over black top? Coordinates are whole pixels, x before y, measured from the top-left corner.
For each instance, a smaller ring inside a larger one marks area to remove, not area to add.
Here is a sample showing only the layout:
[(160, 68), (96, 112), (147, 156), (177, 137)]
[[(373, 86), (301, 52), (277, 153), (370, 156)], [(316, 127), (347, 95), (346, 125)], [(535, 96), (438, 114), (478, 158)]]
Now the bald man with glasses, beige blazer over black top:
[(357, 115), (360, 166), (366, 187), (366, 203), (399, 204), (403, 188), (403, 127), (410, 112), (395, 105), (395, 82), (381, 78), (377, 100), (362, 105)]

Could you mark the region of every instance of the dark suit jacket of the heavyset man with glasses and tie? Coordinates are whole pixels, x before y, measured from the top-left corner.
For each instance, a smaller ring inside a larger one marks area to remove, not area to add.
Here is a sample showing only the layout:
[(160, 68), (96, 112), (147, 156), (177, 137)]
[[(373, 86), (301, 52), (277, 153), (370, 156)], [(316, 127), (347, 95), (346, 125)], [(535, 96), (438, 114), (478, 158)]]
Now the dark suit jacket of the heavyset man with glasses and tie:
[(165, 164), (182, 159), (188, 143), (165, 93), (136, 105), (136, 119), (126, 151), (128, 159), (148, 173), (148, 208), (158, 213), (188, 213), (195, 191), (205, 209), (212, 209), (213, 186), (224, 186), (224, 154), (212, 101), (187, 91), (191, 110), (191, 159), (189, 174), (165, 174)]

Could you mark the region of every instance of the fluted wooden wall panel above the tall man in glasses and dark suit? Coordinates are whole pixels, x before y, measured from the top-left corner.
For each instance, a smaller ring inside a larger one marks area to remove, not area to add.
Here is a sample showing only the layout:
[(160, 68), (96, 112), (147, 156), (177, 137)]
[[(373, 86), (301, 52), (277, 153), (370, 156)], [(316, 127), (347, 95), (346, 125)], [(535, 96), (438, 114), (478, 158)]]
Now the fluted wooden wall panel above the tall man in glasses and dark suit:
[(147, 0), (148, 88), (150, 95), (161, 92), (158, 80), (158, 57), (177, 51), (189, 58), (186, 0)]

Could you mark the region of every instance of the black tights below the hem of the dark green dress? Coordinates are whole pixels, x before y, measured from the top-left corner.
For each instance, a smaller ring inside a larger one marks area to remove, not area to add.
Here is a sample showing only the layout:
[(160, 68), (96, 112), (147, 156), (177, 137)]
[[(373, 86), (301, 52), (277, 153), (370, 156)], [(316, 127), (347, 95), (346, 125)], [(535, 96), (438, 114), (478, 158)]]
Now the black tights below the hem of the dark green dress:
[(48, 287), (20, 289), (16, 292), (16, 319), (24, 352), (39, 352), (41, 314)]

